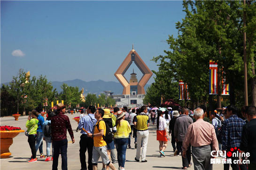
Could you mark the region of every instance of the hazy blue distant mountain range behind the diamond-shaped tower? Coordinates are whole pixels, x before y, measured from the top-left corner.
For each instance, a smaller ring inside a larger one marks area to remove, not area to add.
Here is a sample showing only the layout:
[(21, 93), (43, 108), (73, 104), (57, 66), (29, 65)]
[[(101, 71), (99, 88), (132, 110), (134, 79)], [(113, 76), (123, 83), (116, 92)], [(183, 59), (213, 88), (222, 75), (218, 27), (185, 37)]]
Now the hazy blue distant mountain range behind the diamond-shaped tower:
[[(66, 83), (68, 86), (72, 86), (72, 87), (78, 87), (79, 90), (81, 90), (82, 88), (85, 89), (84, 94), (85, 96), (88, 93), (91, 94), (96, 94), (96, 96), (98, 96), (100, 93), (104, 93), (103, 91), (112, 91), (114, 92), (113, 95), (121, 95), (123, 93), (123, 86), (119, 83), (119, 82), (115, 82), (115, 81), (103, 81), (103, 80), (98, 80), (98, 81), (82, 81), (79, 79), (75, 79), (75, 80), (69, 80), (69, 81), (52, 81), (52, 86), (53, 88), (57, 89), (57, 91), (60, 93), (62, 91), (61, 89), (61, 85), (63, 83)], [(7, 83), (2, 83), (7, 85)], [(2, 86), (1, 84), (1, 86)], [(145, 86), (145, 91), (147, 89), (147, 87), (149, 87), (149, 84), (146, 84)]]

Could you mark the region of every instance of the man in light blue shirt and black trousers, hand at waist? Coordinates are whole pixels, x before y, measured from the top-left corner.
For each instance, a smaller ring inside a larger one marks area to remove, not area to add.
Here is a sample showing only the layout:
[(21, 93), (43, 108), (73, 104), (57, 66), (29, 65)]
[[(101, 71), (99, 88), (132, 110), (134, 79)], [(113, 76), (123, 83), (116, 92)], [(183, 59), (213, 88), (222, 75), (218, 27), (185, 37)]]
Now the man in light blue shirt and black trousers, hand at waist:
[[(94, 106), (89, 106), (87, 108), (87, 114), (84, 116), (78, 124), (78, 128), (84, 128), (88, 133), (93, 133), (94, 126), (97, 123), (96, 118), (94, 117), (94, 112), (96, 111)], [(92, 157), (93, 157), (93, 138), (87, 136), (87, 133), (82, 130), (82, 135), (80, 136), (80, 163), (81, 170), (87, 170), (86, 161), (85, 161), (85, 152), (88, 149), (88, 170), (93, 170)]]

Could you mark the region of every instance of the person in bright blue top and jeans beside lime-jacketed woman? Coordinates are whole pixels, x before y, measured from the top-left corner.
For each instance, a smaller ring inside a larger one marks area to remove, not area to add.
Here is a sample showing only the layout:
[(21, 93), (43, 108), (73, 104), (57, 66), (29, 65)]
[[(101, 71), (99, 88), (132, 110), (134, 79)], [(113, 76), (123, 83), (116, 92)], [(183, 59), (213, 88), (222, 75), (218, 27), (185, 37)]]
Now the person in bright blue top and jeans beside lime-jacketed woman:
[(37, 138), (36, 138), (36, 152), (39, 148), (39, 152), (40, 152), (40, 158), (44, 158), (46, 157), (43, 153), (43, 124), (45, 122), (44, 117), (41, 116), (41, 112), (43, 111), (43, 108), (41, 106), (36, 107), (36, 111), (39, 112), (39, 116), (38, 116), (38, 128), (37, 128)]

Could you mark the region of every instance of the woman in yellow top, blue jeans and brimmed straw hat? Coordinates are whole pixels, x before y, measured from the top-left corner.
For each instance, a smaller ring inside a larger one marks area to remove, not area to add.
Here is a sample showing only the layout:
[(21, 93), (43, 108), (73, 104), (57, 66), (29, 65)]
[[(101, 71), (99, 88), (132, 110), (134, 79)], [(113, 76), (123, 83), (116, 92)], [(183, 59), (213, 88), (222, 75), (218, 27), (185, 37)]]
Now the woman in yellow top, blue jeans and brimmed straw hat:
[(124, 170), (125, 154), (128, 145), (129, 134), (131, 133), (131, 126), (127, 120), (124, 120), (125, 113), (123, 111), (117, 112), (116, 118), (116, 133), (114, 135), (116, 141), (118, 170)]

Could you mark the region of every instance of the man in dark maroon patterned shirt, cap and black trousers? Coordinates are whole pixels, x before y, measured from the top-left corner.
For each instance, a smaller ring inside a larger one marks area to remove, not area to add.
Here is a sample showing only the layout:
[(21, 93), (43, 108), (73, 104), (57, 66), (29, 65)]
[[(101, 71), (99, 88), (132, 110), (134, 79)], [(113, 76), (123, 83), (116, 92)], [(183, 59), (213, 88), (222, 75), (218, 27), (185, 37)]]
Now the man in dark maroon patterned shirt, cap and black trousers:
[[(58, 103), (56, 106), (57, 106), (56, 115), (54, 115), (51, 118), (53, 146), (55, 151), (59, 151), (61, 149), (62, 170), (68, 170), (67, 129), (70, 133), (72, 143), (75, 142), (75, 139), (74, 139), (74, 134), (70, 124), (70, 118), (64, 115), (66, 112), (66, 105), (63, 105), (62, 103)], [(59, 159), (59, 152), (54, 152), (53, 170), (58, 170), (58, 159)]]

